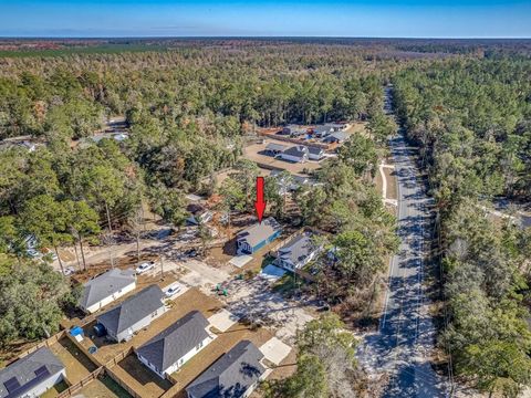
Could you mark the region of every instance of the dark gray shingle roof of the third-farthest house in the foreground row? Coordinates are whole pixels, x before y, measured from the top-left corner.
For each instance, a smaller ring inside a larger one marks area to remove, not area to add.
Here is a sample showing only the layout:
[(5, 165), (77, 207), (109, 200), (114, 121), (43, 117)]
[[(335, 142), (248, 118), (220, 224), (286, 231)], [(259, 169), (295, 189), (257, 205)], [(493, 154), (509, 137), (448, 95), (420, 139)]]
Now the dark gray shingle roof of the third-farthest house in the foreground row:
[(209, 336), (207, 327), (208, 321), (199, 311), (189, 312), (136, 352), (164, 371)]

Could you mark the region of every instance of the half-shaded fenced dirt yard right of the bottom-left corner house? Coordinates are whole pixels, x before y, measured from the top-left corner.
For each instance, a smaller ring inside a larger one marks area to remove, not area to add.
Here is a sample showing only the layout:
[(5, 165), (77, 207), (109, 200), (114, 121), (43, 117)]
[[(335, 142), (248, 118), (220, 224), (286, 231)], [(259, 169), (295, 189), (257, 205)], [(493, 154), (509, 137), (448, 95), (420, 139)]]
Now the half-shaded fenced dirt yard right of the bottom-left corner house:
[(86, 354), (77, 348), (67, 337), (61, 338), (50, 349), (63, 363), (66, 368), (66, 378), (73, 385), (80, 383), (97, 368)]

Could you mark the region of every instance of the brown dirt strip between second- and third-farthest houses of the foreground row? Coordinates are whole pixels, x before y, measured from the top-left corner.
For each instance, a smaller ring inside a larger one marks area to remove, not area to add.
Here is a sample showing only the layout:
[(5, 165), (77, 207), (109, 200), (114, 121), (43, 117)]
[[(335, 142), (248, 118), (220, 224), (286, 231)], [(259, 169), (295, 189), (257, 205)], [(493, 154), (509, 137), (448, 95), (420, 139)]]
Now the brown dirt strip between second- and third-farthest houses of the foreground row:
[[(82, 344), (86, 348), (94, 343), (96, 343), (96, 346), (100, 345), (100, 348), (94, 356), (103, 364), (106, 364), (114, 359), (118, 354), (126, 352), (131, 347), (139, 347), (149, 338), (160, 333), (166, 327), (173, 325), (177, 320), (181, 318), (190, 311), (198, 310), (208, 318), (221, 310), (221, 302), (215, 297), (202, 294), (197, 289), (191, 287), (186, 293), (173, 301), (170, 303), (170, 308), (163, 316), (156, 318), (148, 327), (138, 332), (138, 334), (135, 335), (129, 342), (118, 344), (105, 342), (103, 338), (94, 338), (92, 341), (92, 337), (85, 337)], [(94, 334), (90, 326), (85, 327), (86, 336)]]

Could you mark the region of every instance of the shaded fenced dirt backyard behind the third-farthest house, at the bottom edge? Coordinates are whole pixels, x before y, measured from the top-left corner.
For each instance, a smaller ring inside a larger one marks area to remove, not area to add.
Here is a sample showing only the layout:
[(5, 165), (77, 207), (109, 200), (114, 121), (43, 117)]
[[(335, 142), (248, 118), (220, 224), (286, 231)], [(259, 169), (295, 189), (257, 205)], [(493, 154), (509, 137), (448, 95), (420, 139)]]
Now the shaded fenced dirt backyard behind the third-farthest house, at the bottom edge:
[(113, 368), (113, 371), (116, 373), (117, 368), (123, 369), (129, 376), (124, 378), (123, 381), (127, 383), (127, 386), (132, 387), (135, 391), (143, 391), (143, 397), (160, 397), (173, 386), (171, 383), (162, 379), (144, 366), (138, 360), (136, 354), (127, 355), (118, 363), (118, 366)]

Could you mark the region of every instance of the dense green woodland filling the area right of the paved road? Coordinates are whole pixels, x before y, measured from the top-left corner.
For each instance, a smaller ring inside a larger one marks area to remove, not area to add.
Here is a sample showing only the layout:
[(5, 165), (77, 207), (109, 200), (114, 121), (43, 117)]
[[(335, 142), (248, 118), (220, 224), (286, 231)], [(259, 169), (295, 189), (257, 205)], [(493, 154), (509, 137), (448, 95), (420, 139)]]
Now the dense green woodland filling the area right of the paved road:
[(530, 231), (482, 206), (531, 197), (530, 76), (529, 60), (502, 59), (438, 62), (394, 80), (437, 201), (449, 313), (441, 345), (459, 376), (506, 397), (531, 384)]

